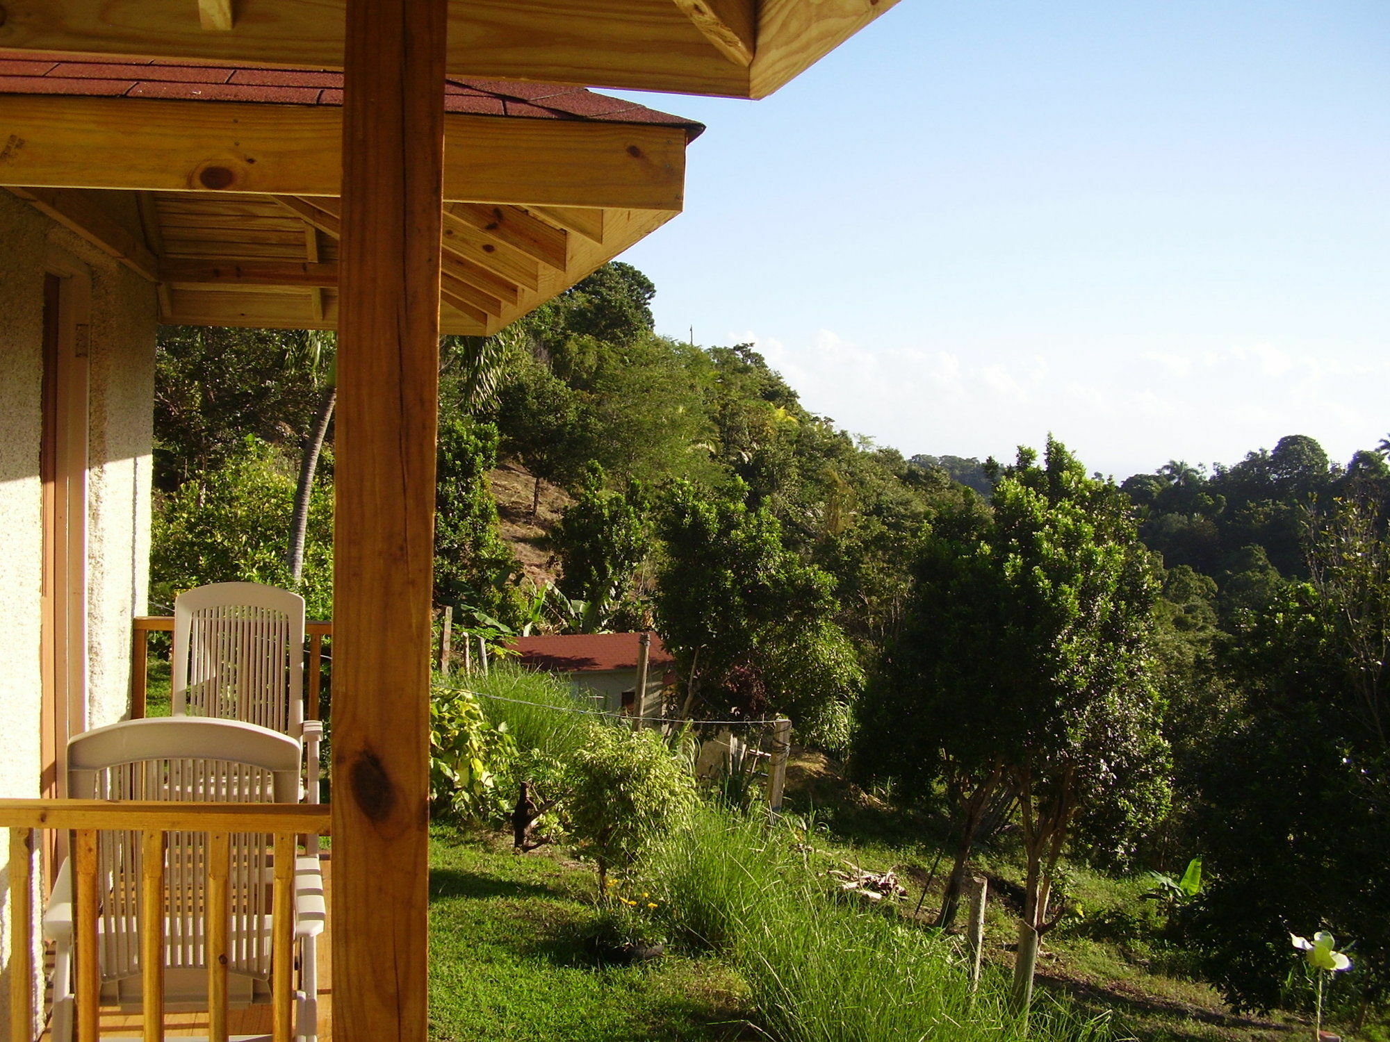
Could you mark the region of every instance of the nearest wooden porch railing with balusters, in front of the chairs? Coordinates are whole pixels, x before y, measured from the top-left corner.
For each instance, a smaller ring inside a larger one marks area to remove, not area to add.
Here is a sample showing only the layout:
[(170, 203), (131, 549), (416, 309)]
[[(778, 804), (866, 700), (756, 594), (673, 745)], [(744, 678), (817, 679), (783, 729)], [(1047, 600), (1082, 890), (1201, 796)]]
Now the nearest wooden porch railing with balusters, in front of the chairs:
[(295, 856), (300, 835), (328, 835), (327, 804), (146, 803), (108, 800), (0, 800), (0, 828), (10, 829), (10, 1038), (33, 1038), (35, 977), (33, 857), (36, 829), (72, 832), (76, 1042), (97, 1042), (101, 967), (97, 921), (101, 903), (97, 832), (140, 835), (140, 973), (146, 1042), (164, 1038), (164, 842), (170, 832), (206, 832), (208, 1038), (228, 1036), (229, 849), (234, 832), (274, 836), (271, 892), (271, 1018), (274, 1042), (293, 1036)]

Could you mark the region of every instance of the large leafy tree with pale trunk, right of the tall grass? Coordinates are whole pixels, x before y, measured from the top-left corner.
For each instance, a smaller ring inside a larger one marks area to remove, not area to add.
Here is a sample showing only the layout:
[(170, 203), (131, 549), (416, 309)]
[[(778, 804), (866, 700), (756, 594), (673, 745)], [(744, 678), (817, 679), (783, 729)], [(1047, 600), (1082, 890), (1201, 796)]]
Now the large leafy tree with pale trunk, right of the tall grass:
[(1087, 478), (1055, 440), (1041, 467), (1020, 449), (992, 507), (988, 518), (940, 518), (927, 538), (915, 618), (870, 700), (860, 746), (874, 741), (869, 728), (901, 721), (878, 732), (902, 746), (880, 770), (945, 781), (966, 852), (972, 813), (992, 786), (1011, 786), (1026, 856), (1016, 977), (1026, 1004), (1029, 953), (1049, 928), (1068, 839), (1122, 859), (1166, 806), (1152, 682), (1158, 584), (1127, 499)]

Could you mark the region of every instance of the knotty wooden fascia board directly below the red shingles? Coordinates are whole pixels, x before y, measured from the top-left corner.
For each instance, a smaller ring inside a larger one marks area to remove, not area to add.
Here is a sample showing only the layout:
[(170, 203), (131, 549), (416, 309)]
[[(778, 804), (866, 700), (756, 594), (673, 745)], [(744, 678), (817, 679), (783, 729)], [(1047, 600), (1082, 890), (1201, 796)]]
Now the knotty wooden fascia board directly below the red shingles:
[[(0, 185), (336, 196), (341, 138), (327, 106), (0, 94)], [(445, 118), (448, 201), (678, 211), (684, 181), (678, 126)]]

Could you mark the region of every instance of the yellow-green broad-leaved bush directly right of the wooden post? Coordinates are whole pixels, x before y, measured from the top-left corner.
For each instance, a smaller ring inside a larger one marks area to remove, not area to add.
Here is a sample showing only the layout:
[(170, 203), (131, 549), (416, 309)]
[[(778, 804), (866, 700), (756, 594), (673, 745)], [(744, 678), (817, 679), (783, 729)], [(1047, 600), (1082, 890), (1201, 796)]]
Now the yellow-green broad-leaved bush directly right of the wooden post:
[(473, 692), (435, 689), (430, 699), (430, 800), (436, 811), (486, 817), (506, 791), (498, 775), (516, 756), (506, 724), (493, 724)]

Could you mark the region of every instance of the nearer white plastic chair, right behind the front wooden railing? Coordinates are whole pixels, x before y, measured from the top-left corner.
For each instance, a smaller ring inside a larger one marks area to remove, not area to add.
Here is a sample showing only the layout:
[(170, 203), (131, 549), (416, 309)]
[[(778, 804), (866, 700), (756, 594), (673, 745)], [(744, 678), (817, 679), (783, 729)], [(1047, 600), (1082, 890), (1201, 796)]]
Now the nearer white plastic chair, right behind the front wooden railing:
[[(299, 742), (254, 724), (171, 717), (128, 720), (96, 728), (68, 742), (68, 779), (74, 799), (297, 803)], [(140, 838), (138, 832), (100, 832), (99, 948), (103, 1004), (140, 1010)], [(170, 832), (164, 854), (164, 995), (171, 1013), (207, 1009), (203, 941), (207, 889), (206, 835)], [(228, 878), (229, 1009), (270, 1002), (271, 878), (270, 845), (261, 834), (231, 841)], [(316, 939), (324, 929), (322, 873), (317, 854), (295, 860), (295, 949), (300, 967), (296, 1039), (314, 1042), (318, 1021)], [(54, 942), (53, 1039), (71, 1042), (72, 875), (64, 861), (43, 916)], [(245, 1036), (243, 1036), (245, 1038)], [(259, 1038), (259, 1036), (249, 1036)]]

